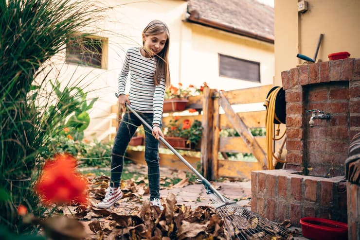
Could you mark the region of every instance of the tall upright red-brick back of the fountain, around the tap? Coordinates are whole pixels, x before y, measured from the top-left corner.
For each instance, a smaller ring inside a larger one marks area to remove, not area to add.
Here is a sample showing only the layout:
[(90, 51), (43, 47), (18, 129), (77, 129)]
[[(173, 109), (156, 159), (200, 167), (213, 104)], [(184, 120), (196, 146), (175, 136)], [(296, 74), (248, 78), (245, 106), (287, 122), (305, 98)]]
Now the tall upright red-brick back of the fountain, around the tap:
[[(350, 140), (360, 131), (360, 59), (303, 65), (282, 72), (287, 102), (287, 168), (306, 175), (344, 174)], [(311, 109), (330, 120), (308, 122)]]

